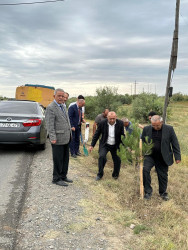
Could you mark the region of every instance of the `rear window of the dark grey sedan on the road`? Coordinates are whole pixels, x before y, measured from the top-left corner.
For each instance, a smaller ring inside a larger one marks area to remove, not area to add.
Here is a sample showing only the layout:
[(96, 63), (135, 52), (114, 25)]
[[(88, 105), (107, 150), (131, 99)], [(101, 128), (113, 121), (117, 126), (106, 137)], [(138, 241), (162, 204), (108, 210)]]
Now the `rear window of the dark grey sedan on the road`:
[(37, 104), (28, 102), (0, 102), (0, 113), (37, 114)]

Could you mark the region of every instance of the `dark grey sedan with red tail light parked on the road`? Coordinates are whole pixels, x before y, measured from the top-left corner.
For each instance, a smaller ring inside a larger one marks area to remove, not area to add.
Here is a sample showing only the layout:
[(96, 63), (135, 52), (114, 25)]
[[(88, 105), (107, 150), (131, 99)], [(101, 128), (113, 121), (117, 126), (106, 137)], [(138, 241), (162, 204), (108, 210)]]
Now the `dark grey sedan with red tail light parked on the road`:
[(44, 150), (45, 110), (38, 102), (0, 101), (0, 144), (28, 144)]

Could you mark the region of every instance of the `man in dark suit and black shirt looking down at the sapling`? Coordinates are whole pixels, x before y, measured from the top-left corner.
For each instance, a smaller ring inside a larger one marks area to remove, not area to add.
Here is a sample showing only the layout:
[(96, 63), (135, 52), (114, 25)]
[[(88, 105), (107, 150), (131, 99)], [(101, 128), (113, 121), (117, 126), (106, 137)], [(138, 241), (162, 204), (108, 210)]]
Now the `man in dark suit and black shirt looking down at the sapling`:
[(168, 200), (168, 166), (173, 164), (173, 155), (176, 163), (180, 163), (181, 154), (178, 139), (174, 129), (170, 125), (163, 124), (162, 118), (154, 115), (151, 118), (151, 125), (143, 129), (142, 140), (145, 142), (146, 136), (153, 142), (152, 154), (145, 156), (143, 168), (144, 198), (149, 200), (152, 195), (150, 171), (155, 166), (158, 181), (159, 195), (163, 200)]

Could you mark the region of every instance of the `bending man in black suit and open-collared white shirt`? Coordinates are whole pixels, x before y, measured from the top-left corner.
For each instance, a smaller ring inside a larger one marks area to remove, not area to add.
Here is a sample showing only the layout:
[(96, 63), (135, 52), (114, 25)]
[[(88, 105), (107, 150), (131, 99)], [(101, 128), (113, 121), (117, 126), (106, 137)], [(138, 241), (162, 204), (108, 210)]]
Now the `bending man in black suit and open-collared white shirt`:
[(101, 121), (93, 136), (89, 151), (91, 152), (101, 135), (99, 143), (99, 171), (96, 180), (100, 180), (104, 174), (106, 155), (110, 151), (114, 162), (112, 177), (117, 179), (120, 172), (121, 160), (117, 155), (117, 149), (121, 143), (121, 136), (124, 135), (124, 126), (121, 120), (117, 119), (115, 112), (109, 112), (107, 120)]

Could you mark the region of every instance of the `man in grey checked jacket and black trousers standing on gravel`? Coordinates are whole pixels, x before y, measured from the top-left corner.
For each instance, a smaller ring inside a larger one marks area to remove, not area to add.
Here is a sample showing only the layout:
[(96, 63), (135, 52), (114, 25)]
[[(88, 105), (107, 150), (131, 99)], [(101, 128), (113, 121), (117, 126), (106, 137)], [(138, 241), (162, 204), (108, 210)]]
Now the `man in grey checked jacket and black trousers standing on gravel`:
[(46, 108), (46, 124), (53, 154), (52, 183), (60, 186), (68, 186), (67, 182), (73, 182), (67, 178), (71, 126), (63, 101), (64, 90), (56, 89), (54, 92), (54, 101)]

